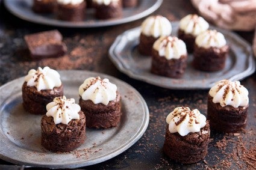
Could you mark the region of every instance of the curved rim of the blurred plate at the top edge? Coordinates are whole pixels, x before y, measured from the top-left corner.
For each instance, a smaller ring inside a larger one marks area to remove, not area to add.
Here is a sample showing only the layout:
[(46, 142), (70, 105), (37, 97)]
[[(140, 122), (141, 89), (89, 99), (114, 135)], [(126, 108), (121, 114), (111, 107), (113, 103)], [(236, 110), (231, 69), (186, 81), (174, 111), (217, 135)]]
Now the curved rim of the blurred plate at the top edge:
[[(141, 19), (153, 13), (163, 3), (163, 0), (152, 0), (152, 1), (155, 1), (155, 3), (148, 9), (142, 11), (141, 13), (134, 14), (132, 16), (128, 16), (121, 19), (100, 20), (99, 22), (96, 22), (96, 23), (90, 23), (90, 22), (67, 22), (67, 21), (57, 20), (57, 19), (47, 20), (47, 18), (45, 17), (43, 17), (43, 20), (37, 20), (36, 18), (34, 19), (33, 17), (31, 18), (28, 15), (20, 14), (19, 12), (15, 11), (13, 9), (13, 3), (11, 1), (22, 1), (22, 0), (8, 0), (8, 1), (4, 0), (4, 5), (7, 8), (7, 10), (10, 11), (10, 13), (13, 14), (14, 16), (19, 17), (20, 19), (26, 20), (28, 22), (42, 24), (42, 25), (60, 26), (60, 27), (66, 27), (66, 28), (98, 28), (98, 27), (119, 25), (122, 23), (132, 22), (134, 20)], [(143, 0), (143, 1), (146, 1), (146, 0)]]

